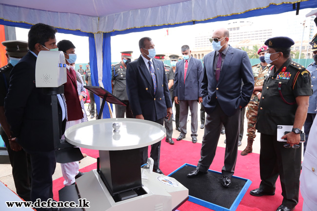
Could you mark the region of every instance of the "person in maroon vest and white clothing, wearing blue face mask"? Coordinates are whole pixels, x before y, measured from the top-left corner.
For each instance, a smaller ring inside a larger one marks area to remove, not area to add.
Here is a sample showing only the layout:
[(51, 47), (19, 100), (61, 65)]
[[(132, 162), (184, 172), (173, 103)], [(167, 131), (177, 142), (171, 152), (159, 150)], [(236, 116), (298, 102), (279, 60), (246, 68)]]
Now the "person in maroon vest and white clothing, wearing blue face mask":
[[(75, 63), (77, 56), (75, 54), (74, 44), (66, 39), (63, 39), (57, 43), (57, 47), (60, 51), (64, 52), (67, 72), (67, 82), (64, 84), (64, 96), (67, 105), (67, 121), (66, 129), (71, 126), (81, 123), (83, 113), (81, 111), (81, 105), (79, 100), (79, 94), (77, 91), (77, 79), (75, 70), (70, 67), (70, 64)], [(62, 139), (64, 135), (62, 136)], [(64, 177), (63, 184), (65, 186), (75, 183), (75, 179), (79, 178), (84, 173), (79, 172), (79, 161), (70, 163), (61, 163), (61, 172)]]

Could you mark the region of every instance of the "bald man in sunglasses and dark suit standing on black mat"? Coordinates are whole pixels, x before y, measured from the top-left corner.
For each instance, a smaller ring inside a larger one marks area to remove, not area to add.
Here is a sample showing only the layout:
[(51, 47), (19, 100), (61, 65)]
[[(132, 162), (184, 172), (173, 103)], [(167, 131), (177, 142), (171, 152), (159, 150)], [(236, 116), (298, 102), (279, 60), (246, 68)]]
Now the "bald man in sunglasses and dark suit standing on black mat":
[[(240, 109), (247, 106), (254, 88), (254, 77), (245, 51), (228, 44), (229, 31), (221, 28), (210, 39), (215, 51), (205, 56), (201, 94), (206, 116), (201, 157), (197, 169), (188, 177), (206, 174), (216, 153), (222, 125), (226, 133), (226, 153), (221, 183), (231, 185), (237, 155), (240, 130)], [(241, 83), (243, 81), (243, 86)]]

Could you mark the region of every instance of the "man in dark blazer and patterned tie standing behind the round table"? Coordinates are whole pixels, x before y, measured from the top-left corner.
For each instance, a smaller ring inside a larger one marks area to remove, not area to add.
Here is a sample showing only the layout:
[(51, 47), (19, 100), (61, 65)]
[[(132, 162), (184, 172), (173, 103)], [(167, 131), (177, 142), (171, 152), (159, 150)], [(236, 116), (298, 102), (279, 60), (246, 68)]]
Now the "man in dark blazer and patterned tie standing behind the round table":
[[(139, 40), (141, 55), (127, 64), (127, 94), (132, 113), (137, 119), (145, 119), (164, 123), (165, 116), (172, 117), (172, 101), (168, 90), (164, 64), (155, 59), (155, 48), (151, 38)], [(162, 173), (159, 169), (161, 142), (151, 146), (151, 157), (154, 160), (153, 171)], [(148, 147), (140, 149), (141, 164), (147, 162)]]

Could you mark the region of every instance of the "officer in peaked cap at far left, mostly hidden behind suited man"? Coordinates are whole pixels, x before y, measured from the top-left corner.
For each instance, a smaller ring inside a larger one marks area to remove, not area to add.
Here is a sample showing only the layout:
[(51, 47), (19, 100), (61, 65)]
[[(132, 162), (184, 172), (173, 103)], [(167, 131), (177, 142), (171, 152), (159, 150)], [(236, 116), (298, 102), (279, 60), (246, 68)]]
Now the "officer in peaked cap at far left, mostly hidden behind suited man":
[(18, 195), (25, 201), (30, 201), (31, 163), (30, 156), (15, 141), (10, 140), (10, 126), (4, 116), (4, 98), (8, 93), (10, 72), (19, 60), (27, 54), (27, 42), (18, 40), (3, 41), (8, 58), (8, 64), (0, 68), (0, 134), (7, 148), (12, 175)]

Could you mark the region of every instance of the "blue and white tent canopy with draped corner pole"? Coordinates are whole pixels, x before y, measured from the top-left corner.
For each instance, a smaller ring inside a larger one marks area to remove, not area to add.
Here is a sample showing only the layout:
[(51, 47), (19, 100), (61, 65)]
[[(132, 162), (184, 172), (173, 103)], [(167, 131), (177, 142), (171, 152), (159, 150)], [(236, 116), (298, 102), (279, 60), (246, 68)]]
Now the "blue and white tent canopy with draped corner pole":
[[(111, 36), (305, 8), (317, 8), (317, 0), (1, 0), (0, 24), (30, 28), (41, 22), (88, 36), (92, 84), (111, 91)], [(109, 117), (106, 106), (103, 118)]]

